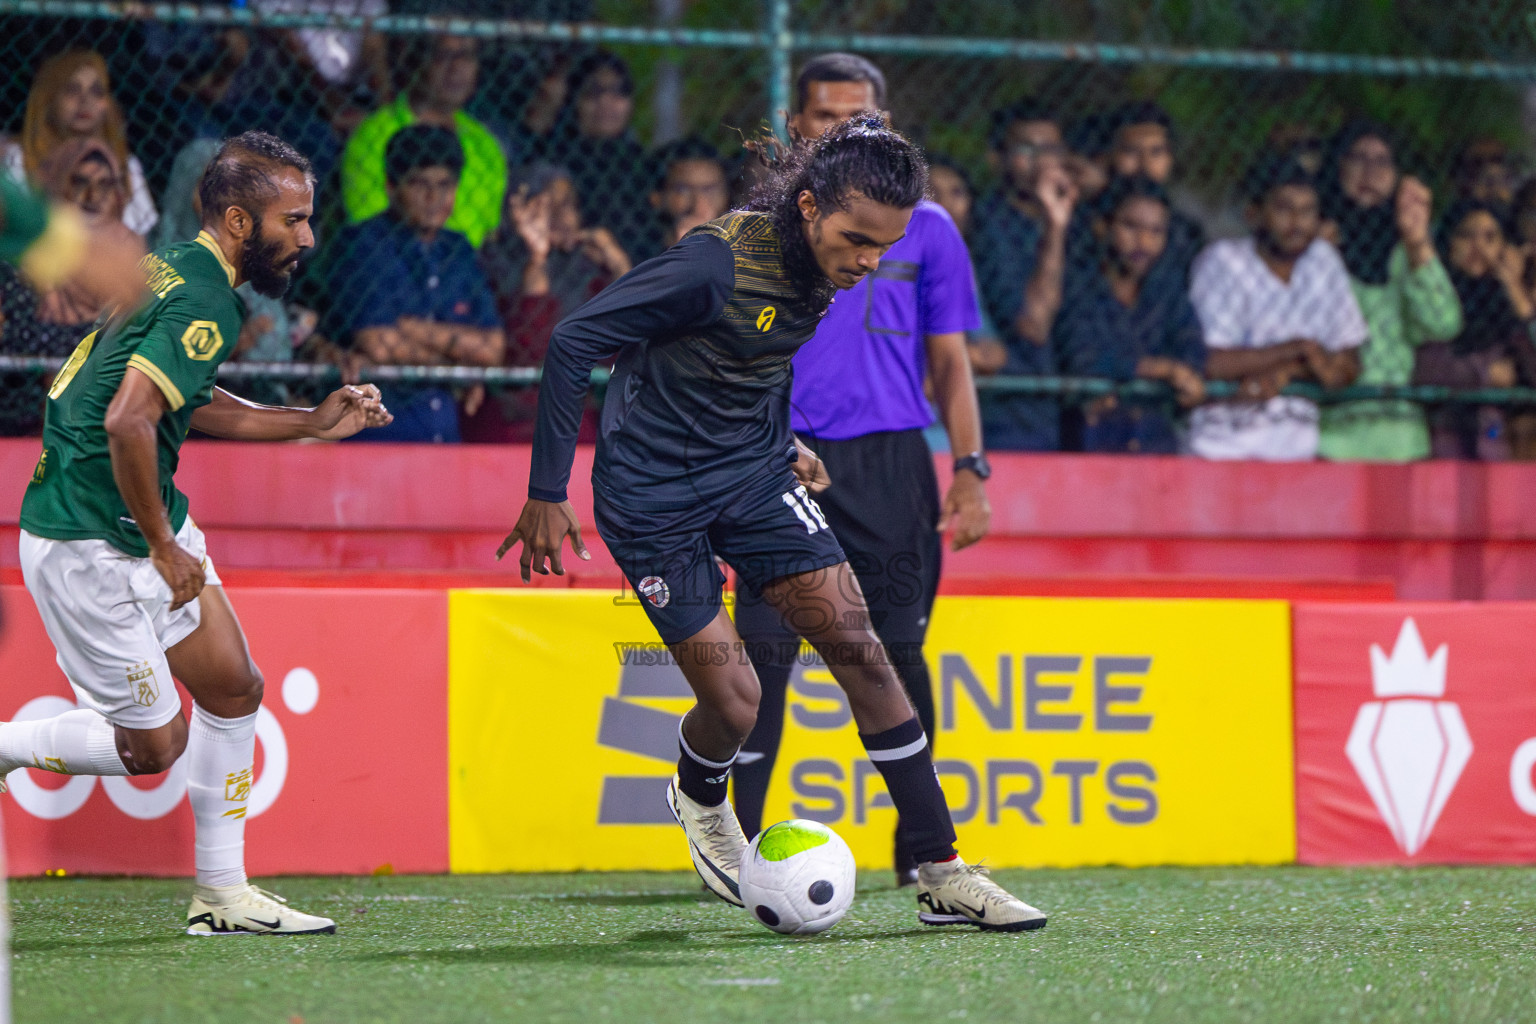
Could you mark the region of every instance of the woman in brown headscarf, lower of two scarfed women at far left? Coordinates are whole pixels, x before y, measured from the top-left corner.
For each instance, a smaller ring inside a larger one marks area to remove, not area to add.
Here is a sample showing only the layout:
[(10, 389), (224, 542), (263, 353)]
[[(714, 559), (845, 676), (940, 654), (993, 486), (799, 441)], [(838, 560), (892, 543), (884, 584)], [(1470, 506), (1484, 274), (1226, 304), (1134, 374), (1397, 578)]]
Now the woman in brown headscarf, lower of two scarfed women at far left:
[[(80, 210), (95, 239), (112, 239), (143, 252), (144, 243), (123, 224), (127, 192), (123, 169), (106, 143), (61, 143), (41, 167), (43, 187), (55, 203)], [(38, 293), (11, 264), (0, 264), (0, 348), (18, 356), (68, 356), (109, 306), (109, 298), (80, 281)], [(0, 433), (31, 434), (43, 422), (48, 379), (6, 373)]]

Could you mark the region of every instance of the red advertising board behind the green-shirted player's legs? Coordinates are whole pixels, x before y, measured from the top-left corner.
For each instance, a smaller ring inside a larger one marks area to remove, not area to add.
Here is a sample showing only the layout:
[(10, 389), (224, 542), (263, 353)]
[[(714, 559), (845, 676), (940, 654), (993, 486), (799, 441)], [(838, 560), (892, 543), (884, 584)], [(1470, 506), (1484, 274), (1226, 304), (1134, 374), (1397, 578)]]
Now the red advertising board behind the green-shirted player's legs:
[[(449, 867), (447, 594), (230, 590), (266, 677), (246, 860), (253, 875)], [(0, 718), (74, 705), (31, 597), (0, 586)], [(186, 691), (184, 708), (190, 708)], [(181, 768), (144, 778), (20, 769), (12, 875), (190, 875)], [(387, 866), (387, 867), (386, 867)]]

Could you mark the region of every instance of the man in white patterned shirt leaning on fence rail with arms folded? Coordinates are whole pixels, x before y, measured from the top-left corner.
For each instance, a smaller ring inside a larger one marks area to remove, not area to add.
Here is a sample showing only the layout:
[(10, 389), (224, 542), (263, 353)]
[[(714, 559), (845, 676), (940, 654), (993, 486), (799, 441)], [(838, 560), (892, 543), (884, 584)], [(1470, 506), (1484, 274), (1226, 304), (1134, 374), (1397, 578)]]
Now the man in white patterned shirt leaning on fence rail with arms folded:
[(1338, 250), (1318, 238), (1315, 177), (1295, 157), (1266, 154), (1244, 184), (1253, 233), (1207, 246), (1190, 281), (1206, 375), (1240, 381), (1240, 398), (1197, 408), (1189, 447), (1207, 459), (1313, 459), (1318, 407), (1279, 390), (1350, 384), (1366, 319)]

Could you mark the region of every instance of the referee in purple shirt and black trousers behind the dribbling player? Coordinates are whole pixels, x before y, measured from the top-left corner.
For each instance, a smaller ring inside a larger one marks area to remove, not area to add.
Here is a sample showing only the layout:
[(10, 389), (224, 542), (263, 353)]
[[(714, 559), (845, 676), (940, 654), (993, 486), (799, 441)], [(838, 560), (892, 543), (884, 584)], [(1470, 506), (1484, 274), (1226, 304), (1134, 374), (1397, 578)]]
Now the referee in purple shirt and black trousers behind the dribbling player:
[[(791, 135), (816, 138), (859, 111), (885, 106), (885, 75), (862, 57), (822, 54), (800, 69)], [(879, 269), (833, 301), (816, 336), (794, 358), (791, 424), (820, 456), (831, 485), (817, 494), (842, 542), (880, 636), (932, 743), (934, 686), (923, 660), (928, 616), (938, 591), (940, 533), (954, 548), (986, 536), (991, 476), (965, 332), (982, 325), (971, 255), (949, 215), (925, 201), (906, 236)], [(955, 474), (940, 502), (923, 430), (934, 399)], [(736, 814), (746, 835), (762, 831), (768, 780), (783, 732), (785, 695), (799, 636), (756, 591), (737, 594), (736, 628), (762, 683), (757, 725), (736, 758)], [(917, 863), (895, 834), (899, 884)]]

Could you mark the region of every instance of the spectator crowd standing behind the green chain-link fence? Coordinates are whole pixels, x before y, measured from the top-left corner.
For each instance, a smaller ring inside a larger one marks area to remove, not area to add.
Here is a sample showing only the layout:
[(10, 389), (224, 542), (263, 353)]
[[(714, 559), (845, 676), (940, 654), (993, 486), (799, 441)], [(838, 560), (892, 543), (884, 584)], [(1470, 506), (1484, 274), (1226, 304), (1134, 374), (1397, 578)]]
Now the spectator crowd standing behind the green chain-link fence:
[[(722, 154), (687, 137), (647, 152), (630, 68), (601, 49), (548, 61), (516, 103), (490, 103), (496, 64), (467, 35), (147, 38), (180, 55), (164, 83), (177, 123), (157, 138), (174, 152), (146, 170), (108, 61), (68, 49), (38, 66), (0, 160), (147, 249), (197, 233), (195, 186), (220, 137), (261, 127), (306, 150), (321, 244), (286, 299), (241, 290), (237, 348), (250, 361), (330, 361), (349, 378), (381, 364), (538, 367), (562, 316), (760, 177), (751, 146)], [(866, 68), (819, 66), (831, 81)], [(796, 83), (791, 124), (817, 117), (819, 81)], [(1163, 398), (989, 393), (989, 450), (1536, 457), (1536, 410), (1283, 393), (1536, 385), (1536, 178), (1521, 184), (1501, 144), (1468, 143), (1450, 195), (1435, 195), (1392, 126), (1284, 126), (1253, 155), (1230, 204), (1241, 220), (1221, 232), (1180, 178), (1187, 144), (1154, 101), (1066, 121), (1021, 100), (992, 114), (985, 167), (931, 154), (932, 198), (971, 249), (982, 298), (983, 327), (968, 336), (977, 376), (1167, 385)], [(995, 184), (978, 193), (974, 173)], [(1215, 236), (1235, 224), (1236, 236)], [(101, 313), (100, 296), (37, 293), (0, 264), (0, 352), (66, 356)], [(1233, 396), (1212, 399), (1212, 381)], [(35, 433), (46, 381), (8, 373), (6, 387), (0, 433)], [(266, 387), (257, 398), (284, 398)], [(538, 390), (422, 384), (386, 398), (396, 419), (378, 439), (527, 441)]]

